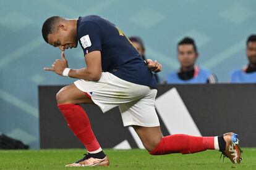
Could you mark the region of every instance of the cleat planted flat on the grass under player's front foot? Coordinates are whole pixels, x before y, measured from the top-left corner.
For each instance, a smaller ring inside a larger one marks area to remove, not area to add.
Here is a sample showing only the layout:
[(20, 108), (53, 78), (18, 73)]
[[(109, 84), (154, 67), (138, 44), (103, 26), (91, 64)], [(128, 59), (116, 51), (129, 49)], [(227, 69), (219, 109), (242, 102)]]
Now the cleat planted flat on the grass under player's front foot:
[(99, 159), (91, 157), (90, 154), (85, 154), (85, 156), (81, 160), (66, 165), (66, 167), (77, 166), (109, 166), (109, 160), (107, 156), (105, 156), (105, 158), (103, 159)]

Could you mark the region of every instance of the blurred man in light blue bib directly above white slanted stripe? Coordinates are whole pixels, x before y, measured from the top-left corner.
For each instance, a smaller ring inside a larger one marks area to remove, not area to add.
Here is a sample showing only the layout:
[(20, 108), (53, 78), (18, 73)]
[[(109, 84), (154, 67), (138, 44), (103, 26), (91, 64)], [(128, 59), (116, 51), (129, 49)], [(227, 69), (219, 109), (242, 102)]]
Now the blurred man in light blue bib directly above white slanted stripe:
[(179, 71), (170, 73), (166, 78), (168, 84), (181, 83), (217, 83), (215, 75), (195, 65), (198, 58), (197, 46), (192, 38), (185, 37), (177, 44)]

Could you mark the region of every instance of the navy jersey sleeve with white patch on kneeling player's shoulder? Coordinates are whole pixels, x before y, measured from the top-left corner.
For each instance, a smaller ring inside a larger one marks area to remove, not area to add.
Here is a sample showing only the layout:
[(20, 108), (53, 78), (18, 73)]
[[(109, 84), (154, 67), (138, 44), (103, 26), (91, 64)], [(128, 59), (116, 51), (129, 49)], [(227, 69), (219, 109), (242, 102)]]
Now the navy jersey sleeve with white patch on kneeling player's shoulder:
[(101, 30), (97, 23), (83, 22), (77, 33), (77, 39), (84, 55), (92, 51), (101, 51)]

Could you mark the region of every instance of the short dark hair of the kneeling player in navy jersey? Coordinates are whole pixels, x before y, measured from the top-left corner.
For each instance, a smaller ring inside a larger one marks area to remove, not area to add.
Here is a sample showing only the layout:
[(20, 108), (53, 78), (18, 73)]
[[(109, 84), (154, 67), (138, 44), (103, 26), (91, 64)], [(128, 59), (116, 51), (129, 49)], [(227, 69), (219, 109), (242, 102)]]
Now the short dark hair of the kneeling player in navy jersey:
[(59, 16), (53, 16), (49, 17), (45, 22), (43, 23), (42, 26), (42, 36), (43, 39), (48, 43), (48, 34), (54, 33), (56, 31), (56, 24), (61, 20), (62, 17)]

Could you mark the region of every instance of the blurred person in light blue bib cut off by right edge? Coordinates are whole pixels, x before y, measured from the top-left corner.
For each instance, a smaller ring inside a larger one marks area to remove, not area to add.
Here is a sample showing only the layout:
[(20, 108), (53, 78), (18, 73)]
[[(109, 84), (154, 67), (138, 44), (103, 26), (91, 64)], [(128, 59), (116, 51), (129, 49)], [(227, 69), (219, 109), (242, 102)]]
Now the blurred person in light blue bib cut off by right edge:
[(249, 36), (246, 42), (248, 65), (231, 72), (231, 83), (256, 83), (256, 34)]

